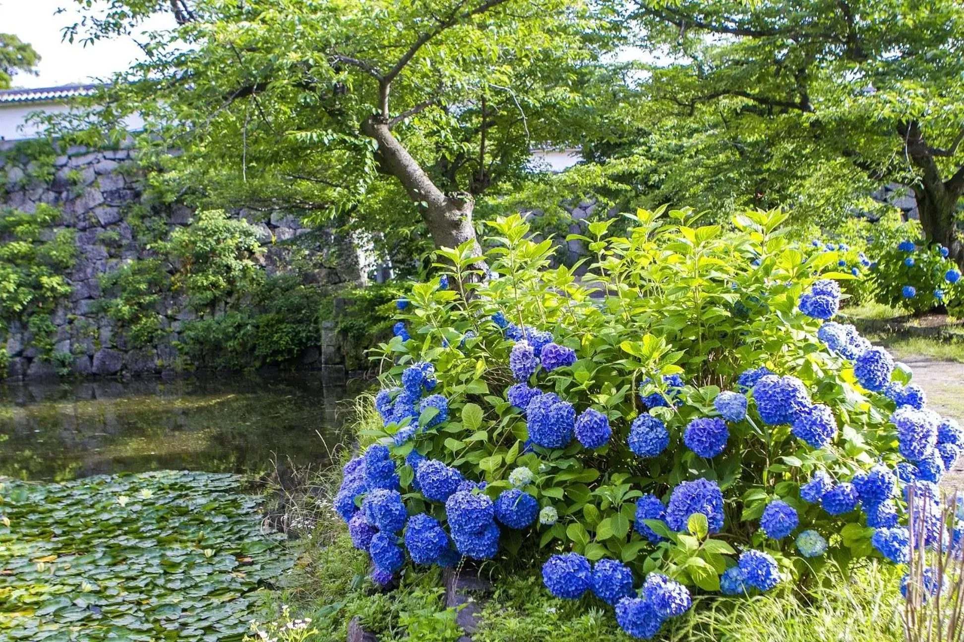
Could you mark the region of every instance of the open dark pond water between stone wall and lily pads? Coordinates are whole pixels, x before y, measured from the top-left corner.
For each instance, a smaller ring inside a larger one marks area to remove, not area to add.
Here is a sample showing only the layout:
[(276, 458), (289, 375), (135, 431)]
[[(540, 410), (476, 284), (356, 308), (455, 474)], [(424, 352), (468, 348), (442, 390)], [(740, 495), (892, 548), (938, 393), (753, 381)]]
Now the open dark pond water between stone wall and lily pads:
[(315, 373), (0, 386), (0, 475), (64, 480), (324, 465), (357, 390)]

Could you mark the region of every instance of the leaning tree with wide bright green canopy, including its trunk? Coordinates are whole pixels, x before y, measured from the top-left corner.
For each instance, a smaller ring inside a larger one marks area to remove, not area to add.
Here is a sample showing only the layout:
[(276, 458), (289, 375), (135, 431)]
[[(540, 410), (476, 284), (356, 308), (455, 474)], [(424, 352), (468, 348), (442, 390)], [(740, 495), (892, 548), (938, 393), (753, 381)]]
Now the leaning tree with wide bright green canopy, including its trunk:
[(335, 220), (389, 251), (419, 215), (438, 245), (472, 238), (475, 199), (511, 193), (532, 147), (578, 144), (569, 115), (592, 109), (614, 46), (567, 0), (128, 0), (94, 3), (67, 38), (157, 12), (175, 20), (146, 62), (59, 133), (99, 143), (140, 114), (170, 194)]

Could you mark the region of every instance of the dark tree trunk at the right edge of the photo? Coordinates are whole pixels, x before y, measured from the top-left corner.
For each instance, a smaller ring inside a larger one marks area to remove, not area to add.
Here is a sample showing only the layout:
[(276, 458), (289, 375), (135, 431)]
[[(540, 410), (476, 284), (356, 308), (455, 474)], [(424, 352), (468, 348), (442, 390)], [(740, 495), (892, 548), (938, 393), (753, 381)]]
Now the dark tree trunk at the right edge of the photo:
[(950, 258), (964, 266), (964, 243), (957, 233), (957, 201), (964, 193), (964, 167), (960, 167), (947, 181), (934, 161), (934, 149), (924, 141), (924, 133), (916, 121), (900, 123), (897, 133), (904, 141), (907, 156), (920, 170), (914, 186), (914, 199), (924, 237), (931, 243), (948, 248)]

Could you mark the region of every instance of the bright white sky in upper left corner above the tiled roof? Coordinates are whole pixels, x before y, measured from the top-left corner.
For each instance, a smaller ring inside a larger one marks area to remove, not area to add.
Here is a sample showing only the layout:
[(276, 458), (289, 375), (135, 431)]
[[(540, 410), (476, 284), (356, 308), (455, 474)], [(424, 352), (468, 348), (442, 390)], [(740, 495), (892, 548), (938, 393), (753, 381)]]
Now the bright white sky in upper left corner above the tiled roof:
[[(62, 42), (61, 29), (77, 21), (75, 6), (74, 0), (0, 0), (0, 33), (31, 43), (41, 58), (40, 75), (18, 73), (13, 76), (14, 88), (91, 82), (127, 68), (142, 55), (130, 38), (101, 40), (87, 47)], [(61, 7), (67, 12), (55, 15)], [(165, 24), (164, 17), (170, 19), (162, 16), (160, 24)]]

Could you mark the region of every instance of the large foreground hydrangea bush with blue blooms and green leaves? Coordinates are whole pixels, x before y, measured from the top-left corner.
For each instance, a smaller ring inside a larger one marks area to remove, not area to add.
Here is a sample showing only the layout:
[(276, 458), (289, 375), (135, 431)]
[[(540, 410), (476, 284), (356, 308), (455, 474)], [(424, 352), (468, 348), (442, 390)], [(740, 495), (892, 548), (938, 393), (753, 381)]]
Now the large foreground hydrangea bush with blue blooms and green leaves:
[(927, 495), (960, 430), (832, 321), (834, 254), (788, 243), (777, 213), (630, 218), (628, 237), (589, 224), (578, 278), (516, 216), (491, 223), (488, 278), (463, 247), (441, 252), (446, 287), (413, 287), (377, 357), (384, 427), (335, 499), (377, 581), (535, 560), (553, 595), (645, 639), (693, 592), (906, 559), (901, 489)]

